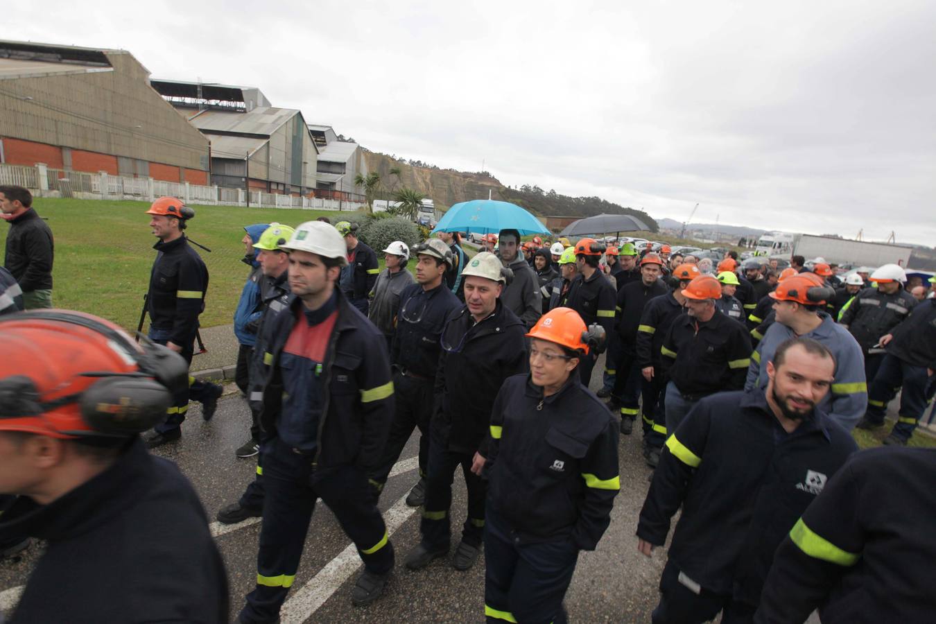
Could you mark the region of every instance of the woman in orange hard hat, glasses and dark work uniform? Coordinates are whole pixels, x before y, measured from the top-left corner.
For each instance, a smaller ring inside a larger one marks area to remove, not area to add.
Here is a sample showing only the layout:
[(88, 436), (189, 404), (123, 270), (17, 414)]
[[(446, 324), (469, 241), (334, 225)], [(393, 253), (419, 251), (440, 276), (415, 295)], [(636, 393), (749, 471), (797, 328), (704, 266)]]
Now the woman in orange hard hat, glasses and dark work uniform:
[(581, 385), (578, 363), (604, 347), (604, 330), (556, 308), (527, 336), (530, 373), (509, 377), (490, 417), (485, 523), (489, 622), (565, 622), (563, 596), (579, 550), (610, 522), (618, 475), (618, 424)]

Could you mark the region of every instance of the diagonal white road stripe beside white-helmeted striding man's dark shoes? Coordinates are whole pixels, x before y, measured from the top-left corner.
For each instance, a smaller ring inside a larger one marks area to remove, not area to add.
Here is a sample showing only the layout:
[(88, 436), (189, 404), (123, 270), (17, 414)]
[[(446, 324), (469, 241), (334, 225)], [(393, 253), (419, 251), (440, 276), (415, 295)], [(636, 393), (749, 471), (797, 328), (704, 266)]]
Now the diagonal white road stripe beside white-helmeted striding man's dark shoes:
[[(407, 494), (409, 494), (407, 492)], [(384, 522), (387, 524), (387, 533), (390, 537), (399, 529), (403, 522), (416, 513), (415, 507), (406, 506), (406, 496), (396, 501), (392, 507), (384, 512)], [(361, 566), (358, 549), (354, 544), (348, 544), (335, 559), (331, 559), (319, 573), (315, 574), (305, 585), (294, 591), (285, 602), (280, 611), (280, 621), (283, 624), (300, 624), (312, 616), (315, 611), (325, 604), (331, 595), (344, 585), (344, 582), (358, 571)]]

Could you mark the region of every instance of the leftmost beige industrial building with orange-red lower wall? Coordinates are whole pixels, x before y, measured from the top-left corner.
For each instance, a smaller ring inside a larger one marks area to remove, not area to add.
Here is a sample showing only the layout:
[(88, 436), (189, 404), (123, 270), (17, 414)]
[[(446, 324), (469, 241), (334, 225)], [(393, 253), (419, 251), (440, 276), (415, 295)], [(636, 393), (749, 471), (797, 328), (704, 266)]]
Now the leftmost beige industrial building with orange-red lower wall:
[(0, 163), (208, 184), (208, 138), (149, 77), (127, 51), (0, 41)]

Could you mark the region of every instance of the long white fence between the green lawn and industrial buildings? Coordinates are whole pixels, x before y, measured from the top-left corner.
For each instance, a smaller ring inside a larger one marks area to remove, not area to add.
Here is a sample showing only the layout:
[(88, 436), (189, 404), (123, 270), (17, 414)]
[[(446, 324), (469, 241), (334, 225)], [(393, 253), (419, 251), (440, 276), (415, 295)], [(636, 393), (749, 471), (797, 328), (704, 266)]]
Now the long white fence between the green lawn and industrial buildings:
[(79, 199), (136, 199), (153, 201), (156, 197), (174, 196), (186, 204), (250, 206), (298, 210), (359, 210), (358, 201), (339, 201), (319, 197), (297, 197), (274, 193), (250, 192), (220, 186), (201, 186), (189, 182), (168, 182), (153, 178), (112, 176), (104, 171), (66, 171), (38, 164), (36, 167), (0, 164), (0, 184), (24, 186), (39, 197), (76, 197)]

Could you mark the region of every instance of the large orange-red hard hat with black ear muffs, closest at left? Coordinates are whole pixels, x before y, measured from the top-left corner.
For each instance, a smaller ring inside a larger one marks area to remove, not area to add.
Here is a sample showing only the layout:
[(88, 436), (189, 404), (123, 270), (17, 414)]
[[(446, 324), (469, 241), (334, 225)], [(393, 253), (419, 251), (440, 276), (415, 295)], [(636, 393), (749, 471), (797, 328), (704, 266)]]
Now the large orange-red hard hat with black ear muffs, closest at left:
[(0, 318), (0, 431), (53, 438), (130, 437), (166, 417), (188, 365), (82, 312)]

